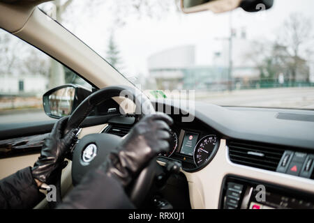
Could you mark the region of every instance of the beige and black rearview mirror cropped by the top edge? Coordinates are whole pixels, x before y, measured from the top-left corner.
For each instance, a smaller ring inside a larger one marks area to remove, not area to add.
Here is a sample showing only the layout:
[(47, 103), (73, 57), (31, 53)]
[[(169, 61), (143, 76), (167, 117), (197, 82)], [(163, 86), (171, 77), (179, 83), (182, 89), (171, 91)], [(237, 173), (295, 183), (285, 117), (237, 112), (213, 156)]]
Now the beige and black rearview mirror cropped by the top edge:
[(235, 8), (243, 8), (247, 12), (258, 12), (271, 8), (273, 4), (274, 0), (181, 0), (181, 10), (184, 13), (204, 10), (224, 13)]

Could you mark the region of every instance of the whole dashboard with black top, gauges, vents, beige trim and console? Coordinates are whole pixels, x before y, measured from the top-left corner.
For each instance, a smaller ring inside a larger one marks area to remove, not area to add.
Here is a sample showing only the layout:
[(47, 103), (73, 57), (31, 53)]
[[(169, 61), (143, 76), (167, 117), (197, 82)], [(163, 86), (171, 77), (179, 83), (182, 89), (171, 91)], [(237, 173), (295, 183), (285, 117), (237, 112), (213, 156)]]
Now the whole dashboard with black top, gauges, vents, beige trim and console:
[[(171, 101), (154, 103), (165, 111), (175, 109)], [(201, 102), (194, 109), (190, 122), (182, 121), (188, 111), (170, 114), (171, 151), (158, 157), (162, 165), (181, 163), (185, 183), (180, 184), (187, 187), (184, 196), (191, 208), (314, 208), (313, 111)], [(134, 121), (112, 118), (105, 132), (123, 137)], [(266, 201), (256, 200), (260, 185)]]

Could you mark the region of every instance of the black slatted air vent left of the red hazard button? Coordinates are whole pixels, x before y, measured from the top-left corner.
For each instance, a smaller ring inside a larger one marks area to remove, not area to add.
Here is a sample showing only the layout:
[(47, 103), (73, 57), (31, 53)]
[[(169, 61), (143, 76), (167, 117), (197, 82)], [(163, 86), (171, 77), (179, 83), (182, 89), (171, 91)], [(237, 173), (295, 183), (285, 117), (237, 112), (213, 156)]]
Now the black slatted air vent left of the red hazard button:
[(284, 149), (268, 144), (229, 141), (230, 160), (236, 164), (276, 171)]

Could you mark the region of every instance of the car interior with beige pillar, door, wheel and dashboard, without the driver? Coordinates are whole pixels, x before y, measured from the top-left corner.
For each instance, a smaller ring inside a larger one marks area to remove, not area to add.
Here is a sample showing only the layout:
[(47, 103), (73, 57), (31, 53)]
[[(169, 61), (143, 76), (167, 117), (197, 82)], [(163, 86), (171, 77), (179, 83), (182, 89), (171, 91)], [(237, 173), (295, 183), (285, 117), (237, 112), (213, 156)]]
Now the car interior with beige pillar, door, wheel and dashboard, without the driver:
[[(79, 127), (80, 132), (61, 174), (59, 190), (64, 197), (142, 116), (163, 112), (174, 120), (170, 152), (158, 155), (135, 180), (130, 198), (137, 207), (314, 208), (313, 109), (147, 98), (91, 47), (38, 8), (45, 1), (0, 1), (0, 28), (58, 61), (90, 87), (68, 83), (41, 95), (50, 117), (47, 121), (0, 123), (0, 178), (32, 166), (57, 119), (70, 116), (68, 130)], [(181, 11), (188, 15), (239, 7), (254, 12), (256, 2), (254, 7), (252, 2), (179, 1)], [(265, 10), (273, 3), (258, 2), (265, 4)], [(123, 92), (126, 98), (121, 97)], [(63, 104), (61, 97), (70, 99), (63, 98)], [(91, 142), (99, 151), (87, 165), (82, 154)], [(261, 187), (266, 190), (264, 200), (257, 196)], [(43, 199), (34, 208), (49, 208), (49, 203)]]

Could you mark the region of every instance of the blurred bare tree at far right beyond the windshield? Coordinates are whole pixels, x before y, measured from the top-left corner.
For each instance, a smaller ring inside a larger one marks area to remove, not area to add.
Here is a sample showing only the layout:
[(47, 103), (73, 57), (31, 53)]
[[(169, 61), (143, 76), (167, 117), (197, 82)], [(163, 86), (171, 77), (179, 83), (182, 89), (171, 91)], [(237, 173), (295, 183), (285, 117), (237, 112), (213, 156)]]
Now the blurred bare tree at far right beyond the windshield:
[(297, 79), (308, 81), (307, 61), (301, 55), (311, 54), (307, 50), (313, 40), (311, 20), (294, 13), (285, 20), (282, 27), (275, 41), (255, 42), (246, 58), (253, 61), (260, 70), (262, 82), (270, 82), (271, 79), (271, 82), (276, 82), (281, 74), (290, 82), (296, 82)]

